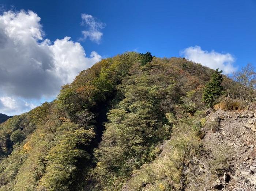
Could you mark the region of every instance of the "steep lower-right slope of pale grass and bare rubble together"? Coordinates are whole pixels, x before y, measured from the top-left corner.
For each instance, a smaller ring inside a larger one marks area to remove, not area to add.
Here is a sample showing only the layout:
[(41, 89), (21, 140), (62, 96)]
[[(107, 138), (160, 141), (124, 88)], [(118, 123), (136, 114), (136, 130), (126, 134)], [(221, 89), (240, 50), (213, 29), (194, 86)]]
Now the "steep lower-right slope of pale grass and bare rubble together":
[[(135, 172), (122, 190), (255, 191), (256, 110), (209, 113), (177, 122), (158, 157)], [(187, 127), (193, 127), (191, 119), (201, 122), (202, 140)]]

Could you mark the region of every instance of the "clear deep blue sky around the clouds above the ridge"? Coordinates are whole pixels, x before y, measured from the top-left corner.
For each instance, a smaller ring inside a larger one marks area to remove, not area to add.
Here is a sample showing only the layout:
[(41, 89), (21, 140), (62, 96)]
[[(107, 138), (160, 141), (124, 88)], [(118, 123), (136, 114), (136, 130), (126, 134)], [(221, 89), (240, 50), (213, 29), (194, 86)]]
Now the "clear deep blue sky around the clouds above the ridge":
[(5, 8), (32, 10), (41, 17), (46, 37), (81, 36), (81, 13), (106, 23), (101, 44), (81, 44), (87, 52), (113, 56), (124, 51), (151, 51), (156, 56), (179, 56), (198, 45), (203, 50), (229, 52), (238, 65), (256, 60), (255, 0), (67, 1), (5, 0)]

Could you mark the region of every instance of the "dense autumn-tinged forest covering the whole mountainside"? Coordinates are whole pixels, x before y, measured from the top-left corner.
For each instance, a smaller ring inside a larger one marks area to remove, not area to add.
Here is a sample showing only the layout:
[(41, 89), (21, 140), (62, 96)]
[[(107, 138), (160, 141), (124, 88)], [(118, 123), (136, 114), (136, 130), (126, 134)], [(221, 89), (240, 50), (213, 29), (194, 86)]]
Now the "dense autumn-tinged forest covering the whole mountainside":
[[(64, 85), (56, 100), (0, 124), (0, 190), (184, 190), (203, 113), (255, 100), (251, 65), (233, 79), (185, 58), (126, 52)], [(166, 158), (157, 159), (172, 149)]]

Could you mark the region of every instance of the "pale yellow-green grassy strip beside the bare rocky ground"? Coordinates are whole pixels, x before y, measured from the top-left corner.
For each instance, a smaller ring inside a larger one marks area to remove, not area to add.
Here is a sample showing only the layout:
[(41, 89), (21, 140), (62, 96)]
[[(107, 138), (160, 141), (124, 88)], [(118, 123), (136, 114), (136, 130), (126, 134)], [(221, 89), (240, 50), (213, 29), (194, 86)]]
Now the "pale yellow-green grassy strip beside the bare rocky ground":
[[(198, 120), (198, 119), (197, 119)], [(165, 144), (164, 155), (144, 165), (128, 180), (128, 190), (140, 191), (147, 186), (149, 191), (184, 190), (182, 170), (189, 158), (200, 150), (199, 138), (195, 133), (198, 124), (181, 119), (173, 129), (172, 138)]]

